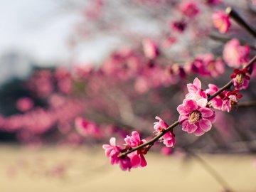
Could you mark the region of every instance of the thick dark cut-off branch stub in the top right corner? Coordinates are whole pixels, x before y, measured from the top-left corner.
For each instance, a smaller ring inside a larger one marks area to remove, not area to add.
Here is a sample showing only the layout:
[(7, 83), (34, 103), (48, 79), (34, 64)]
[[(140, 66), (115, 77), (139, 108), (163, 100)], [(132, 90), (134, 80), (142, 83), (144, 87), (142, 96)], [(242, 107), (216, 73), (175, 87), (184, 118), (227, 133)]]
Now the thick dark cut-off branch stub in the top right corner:
[(231, 18), (233, 18), (240, 26), (245, 28), (247, 32), (249, 32), (254, 38), (256, 38), (256, 31), (252, 28), (245, 20), (238, 14), (237, 11), (232, 9), (230, 6), (225, 10), (226, 14), (228, 14)]

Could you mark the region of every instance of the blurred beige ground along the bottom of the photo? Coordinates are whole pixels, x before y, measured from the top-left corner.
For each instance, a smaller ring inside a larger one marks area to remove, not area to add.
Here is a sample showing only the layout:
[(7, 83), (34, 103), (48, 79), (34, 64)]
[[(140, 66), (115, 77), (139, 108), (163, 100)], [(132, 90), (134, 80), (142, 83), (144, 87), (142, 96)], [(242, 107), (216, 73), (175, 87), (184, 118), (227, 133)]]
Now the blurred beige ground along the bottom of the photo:
[[(203, 155), (234, 191), (256, 191), (254, 156)], [(222, 191), (198, 161), (148, 154), (130, 173), (110, 166), (101, 149), (0, 146), (0, 192)]]

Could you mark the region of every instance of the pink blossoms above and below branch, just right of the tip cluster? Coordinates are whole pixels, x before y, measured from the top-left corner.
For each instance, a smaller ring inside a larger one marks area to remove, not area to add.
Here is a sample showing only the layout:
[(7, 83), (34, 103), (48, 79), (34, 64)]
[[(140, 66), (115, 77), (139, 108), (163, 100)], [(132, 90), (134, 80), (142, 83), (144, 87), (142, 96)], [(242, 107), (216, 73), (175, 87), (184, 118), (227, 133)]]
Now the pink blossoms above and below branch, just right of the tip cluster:
[[(127, 144), (127, 148), (129, 149), (130, 147), (134, 148), (136, 146), (146, 143), (146, 140), (145, 139), (141, 140), (139, 137), (139, 133), (134, 131), (132, 132), (131, 136), (127, 135), (127, 137), (124, 138), (124, 142)], [(138, 166), (140, 167), (146, 166), (146, 159), (144, 157), (146, 152), (147, 152), (147, 149), (142, 148), (127, 155), (131, 160), (132, 168), (136, 168)]]

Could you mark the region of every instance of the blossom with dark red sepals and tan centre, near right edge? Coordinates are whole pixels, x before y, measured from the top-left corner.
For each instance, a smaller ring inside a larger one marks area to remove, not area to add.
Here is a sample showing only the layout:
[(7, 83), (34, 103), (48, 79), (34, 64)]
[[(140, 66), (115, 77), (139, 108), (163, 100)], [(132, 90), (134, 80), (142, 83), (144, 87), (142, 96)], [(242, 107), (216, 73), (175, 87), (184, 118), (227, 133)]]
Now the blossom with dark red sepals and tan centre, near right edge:
[(237, 90), (245, 90), (249, 85), (250, 76), (247, 75), (247, 68), (242, 70), (235, 69), (230, 78), (232, 78), (235, 89)]

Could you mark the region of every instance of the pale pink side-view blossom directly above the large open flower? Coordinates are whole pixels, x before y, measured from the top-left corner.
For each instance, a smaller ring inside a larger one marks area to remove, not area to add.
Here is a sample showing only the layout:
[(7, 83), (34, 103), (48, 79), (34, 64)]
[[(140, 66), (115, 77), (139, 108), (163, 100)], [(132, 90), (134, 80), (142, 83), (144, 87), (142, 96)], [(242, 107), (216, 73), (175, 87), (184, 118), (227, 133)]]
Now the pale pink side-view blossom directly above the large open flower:
[(207, 95), (204, 90), (201, 89), (201, 81), (195, 78), (192, 83), (188, 83), (188, 94), (186, 94), (186, 99), (194, 100), (201, 105), (201, 107), (206, 107), (207, 105)]

